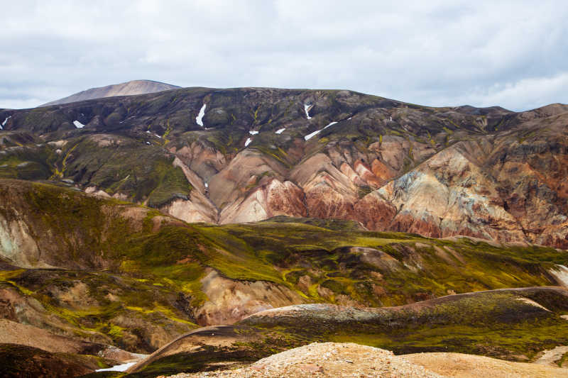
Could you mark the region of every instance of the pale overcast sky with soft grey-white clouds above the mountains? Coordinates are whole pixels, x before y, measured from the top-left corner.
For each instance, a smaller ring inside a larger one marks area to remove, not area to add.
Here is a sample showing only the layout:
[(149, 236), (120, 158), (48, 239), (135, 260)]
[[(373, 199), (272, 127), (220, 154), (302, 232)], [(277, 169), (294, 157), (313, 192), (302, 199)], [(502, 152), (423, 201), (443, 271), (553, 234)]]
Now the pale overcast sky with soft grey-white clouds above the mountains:
[(151, 79), (568, 103), (568, 1), (0, 0), (0, 108)]

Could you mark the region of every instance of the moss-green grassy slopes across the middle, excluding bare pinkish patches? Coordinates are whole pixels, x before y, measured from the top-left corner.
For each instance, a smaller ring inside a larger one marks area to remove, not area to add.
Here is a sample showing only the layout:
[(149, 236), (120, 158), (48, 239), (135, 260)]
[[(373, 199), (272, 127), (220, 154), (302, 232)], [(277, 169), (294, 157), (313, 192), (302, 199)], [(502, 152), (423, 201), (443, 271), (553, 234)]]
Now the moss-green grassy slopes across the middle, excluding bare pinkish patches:
[[(119, 326), (119, 316), (180, 331), (195, 327), (187, 308), (207, 300), (200, 284), (206, 267), (231, 279), (283, 284), (314, 302), (341, 303), (347, 298), (366, 306), (390, 306), (451, 290), (552, 284), (546, 269), (568, 262), (566, 252), (553, 248), (503, 249), (469, 239), (342, 230), (327, 221), (190, 226), (139, 206), (44, 184), (3, 182), (0, 197), (8, 198), (13, 187), (25, 201), (12, 206), (28, 212), (39, 244), (55, 243), (58, 261), (67, 262), (73, 271), (0, 272), (3, 285), (37, 299), (77, 333), (102, 333), (125, 348), (132, 348), (127, 335), (140, 330)], [(4, 204), (0, 210), (9, 218), (14, 216), (9, 209)], [(146, 215), (129, 218), (129, 209)], [(48, 234), (57, 238), (47, 238)], [(396, 269), (371, 265), (361, 260), (360, 252), (350, 250), (352, 246), (380, 249), (400, 264)], [(305, 276), (310, 277), (307, 288), (299, 284)], [(50, 287), (65, 286), (72, 279), (87, 284), (96, 306), (75, 308), (48, 295)], [(327, 296), (322, 296), (321, 288), (329, 290)], [(119, 300), (108, 299), (109, 293)], [(185, 310), (180, 296), (187, 302)]]

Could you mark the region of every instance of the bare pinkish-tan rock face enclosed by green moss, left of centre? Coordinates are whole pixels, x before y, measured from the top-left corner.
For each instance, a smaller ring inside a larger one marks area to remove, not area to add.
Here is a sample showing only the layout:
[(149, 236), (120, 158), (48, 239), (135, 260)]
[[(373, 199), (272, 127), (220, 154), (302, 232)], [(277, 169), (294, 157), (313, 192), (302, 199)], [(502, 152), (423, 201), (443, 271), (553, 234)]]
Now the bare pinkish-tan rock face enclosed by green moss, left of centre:
[(305, 303), (300, 294), (271, 282), (233, 281), (210, 270), (202, 279), (208, 300), (195, 311), (197, 323), (232, 324), (258, 311)]

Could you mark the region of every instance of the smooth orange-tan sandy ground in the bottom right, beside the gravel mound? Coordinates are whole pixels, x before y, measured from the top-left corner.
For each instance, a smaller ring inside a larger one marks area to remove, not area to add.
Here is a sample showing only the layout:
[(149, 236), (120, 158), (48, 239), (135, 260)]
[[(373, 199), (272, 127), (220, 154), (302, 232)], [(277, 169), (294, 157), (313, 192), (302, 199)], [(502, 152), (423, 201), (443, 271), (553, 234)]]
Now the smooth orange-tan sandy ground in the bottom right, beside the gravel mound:
[(444, 377), (568, 378), (568, 369), (461, 353), (417, 353), (400, 357)]

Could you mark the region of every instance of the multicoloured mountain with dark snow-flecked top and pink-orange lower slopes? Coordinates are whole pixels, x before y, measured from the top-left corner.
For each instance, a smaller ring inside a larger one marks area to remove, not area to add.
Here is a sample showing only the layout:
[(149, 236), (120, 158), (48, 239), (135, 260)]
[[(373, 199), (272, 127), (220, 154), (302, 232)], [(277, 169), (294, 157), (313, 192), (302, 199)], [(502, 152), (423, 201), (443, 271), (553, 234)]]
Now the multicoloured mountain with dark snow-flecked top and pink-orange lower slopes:
[(187, 88), (0, 111), (0, 177), (184, 221), (285, 215), (568, 248), (568, 106), (432, 108), (353, 91)]

